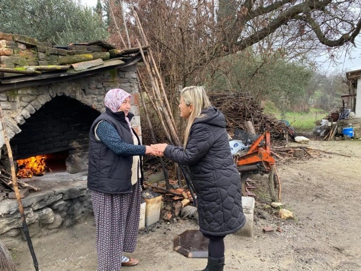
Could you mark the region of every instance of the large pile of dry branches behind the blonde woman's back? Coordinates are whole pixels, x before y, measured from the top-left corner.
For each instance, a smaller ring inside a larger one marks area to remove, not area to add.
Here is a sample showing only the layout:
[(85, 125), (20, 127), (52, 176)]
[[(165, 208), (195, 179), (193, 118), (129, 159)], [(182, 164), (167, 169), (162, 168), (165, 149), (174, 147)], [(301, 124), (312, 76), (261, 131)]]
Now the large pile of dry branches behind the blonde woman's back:
[(209, 99), (224, 114), (230, 134), (234, 134), (236, 128), (247, 131), (246, 122), (250, 121), (257, 134), (268, 130), (273, 138), (293, 135), (293, 130), (285, 123), (263, 113), (259, 98), (255, 95), (230, 91), (211, 92)]

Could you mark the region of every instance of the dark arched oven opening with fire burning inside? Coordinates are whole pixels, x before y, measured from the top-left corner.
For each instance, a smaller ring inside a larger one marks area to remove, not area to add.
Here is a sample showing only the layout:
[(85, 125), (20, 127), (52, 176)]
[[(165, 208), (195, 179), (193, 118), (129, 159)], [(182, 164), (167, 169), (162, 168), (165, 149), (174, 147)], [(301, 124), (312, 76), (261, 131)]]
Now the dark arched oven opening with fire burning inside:
[[(21, 132), (10, 140), (17, 176), (87, 170), (89, 130), (99, 115), (98, 111), (64, 95), (44, 104), (19, 125)], [(6, 159), (6, 154), (1, 159)], [(34, 172), (30, 172), (29, 164), (35, 167)]]

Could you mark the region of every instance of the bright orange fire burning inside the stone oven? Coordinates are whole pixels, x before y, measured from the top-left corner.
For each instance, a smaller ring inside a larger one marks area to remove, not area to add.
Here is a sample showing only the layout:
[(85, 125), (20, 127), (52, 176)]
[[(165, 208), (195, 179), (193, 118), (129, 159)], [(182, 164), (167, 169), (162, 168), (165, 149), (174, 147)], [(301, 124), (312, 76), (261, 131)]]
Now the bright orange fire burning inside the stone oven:
[(45, 155), (38, 155), (17, 160), (18, 172), (16, 177), (31, 178), (33, 175), (44, 175), (46, 169), (45, 158)]

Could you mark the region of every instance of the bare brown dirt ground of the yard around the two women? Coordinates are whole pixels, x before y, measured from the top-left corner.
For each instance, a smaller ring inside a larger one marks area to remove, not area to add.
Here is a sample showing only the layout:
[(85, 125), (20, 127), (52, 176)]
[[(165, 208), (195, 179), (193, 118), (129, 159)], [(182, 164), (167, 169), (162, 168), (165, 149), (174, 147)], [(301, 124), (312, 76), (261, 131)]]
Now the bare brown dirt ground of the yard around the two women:
[[(290, 143), (294, 145), (295, 143)], [(361, 271), (361, 140), (311, 141), (309, 146), (339, 152), (312, 154), (312, 158), (278, 163), (282, 203), (295, 215), (280, 220), (263, 207), (267, 202), (267, 176), (252, 176), (256, 199), (254, 236), (229, 235), (225, 239), (225, 271)], [(264, 233), (277, 226), (282, 232)], [(191, 220), (158, 222), (139, 235), (140, 260), (131, 271), (202, 270), (206, 259), (189, 259), (173, 251), (173, 239)], [(39, 270), (96, 271), (93, 218), (51, 236), (33, 239)], [(35, 270), (26, 244), (12, 255), (19, 271)]]

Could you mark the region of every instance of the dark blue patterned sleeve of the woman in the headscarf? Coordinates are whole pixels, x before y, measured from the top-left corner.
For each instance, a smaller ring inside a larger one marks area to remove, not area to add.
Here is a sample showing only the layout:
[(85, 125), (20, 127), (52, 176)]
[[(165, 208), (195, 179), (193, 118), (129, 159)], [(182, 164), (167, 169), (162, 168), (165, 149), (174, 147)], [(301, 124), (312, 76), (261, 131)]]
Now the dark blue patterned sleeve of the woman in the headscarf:
[(119, 155), (144, 155), (145, 145), (134, 145), (123, 141), (115, 127), (106, 121), (99, 123), (96, 128), (96, 135), (108, 148)]

